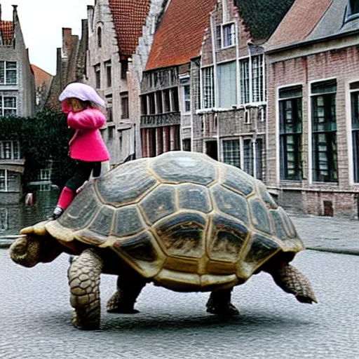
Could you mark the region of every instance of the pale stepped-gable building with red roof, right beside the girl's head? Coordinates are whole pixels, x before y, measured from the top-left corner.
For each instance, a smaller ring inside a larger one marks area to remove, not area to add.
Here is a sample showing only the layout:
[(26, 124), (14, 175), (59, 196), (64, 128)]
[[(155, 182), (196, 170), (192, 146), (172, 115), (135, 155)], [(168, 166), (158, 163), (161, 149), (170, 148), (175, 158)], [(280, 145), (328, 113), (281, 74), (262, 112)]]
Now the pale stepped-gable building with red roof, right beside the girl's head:
[(86, 83), (107, 102), (102, 136), (111, 165), (135, 153), (138, 129), (130, 112), (135, 107), (129, 104), (138, 100), (129, 96), (128, 62), (136, 53), (150, 10), (151, 0), (97, 0), (95, 6), (88, 6)]

